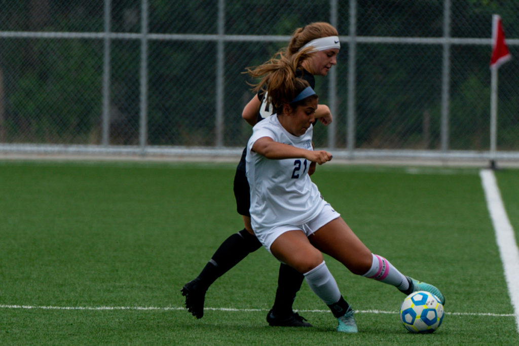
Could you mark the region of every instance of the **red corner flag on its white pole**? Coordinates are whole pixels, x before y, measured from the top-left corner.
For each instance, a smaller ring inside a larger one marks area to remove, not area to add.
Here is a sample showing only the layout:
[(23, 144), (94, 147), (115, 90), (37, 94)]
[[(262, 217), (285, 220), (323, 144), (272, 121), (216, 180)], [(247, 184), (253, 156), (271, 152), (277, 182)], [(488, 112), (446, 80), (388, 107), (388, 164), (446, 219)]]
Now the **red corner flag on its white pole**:
[(492, 56), (490, 57), (490, 168), (496, 168), (497, 143), (497, 70), (512, 58), (504, 41), (504, 31), (499, 15), (492, 16)]

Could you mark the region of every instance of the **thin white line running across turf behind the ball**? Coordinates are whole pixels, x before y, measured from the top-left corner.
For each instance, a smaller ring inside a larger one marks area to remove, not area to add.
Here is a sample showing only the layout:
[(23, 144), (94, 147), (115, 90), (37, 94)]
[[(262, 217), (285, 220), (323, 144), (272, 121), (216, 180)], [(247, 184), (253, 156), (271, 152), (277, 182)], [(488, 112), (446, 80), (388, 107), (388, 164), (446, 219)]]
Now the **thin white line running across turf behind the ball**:
[[(144, 310), (144, 311), (172, 311), (185, 310), (179, 307), (58, 307), (58, 306), (35, 306), (35, 305), (0, 305), (0, 309), (42, 309), (42, 310)], [(204, 310), (212, 311), (230, 311), (230, 312), (266, 312), (269, 309), (236, 309), (236, 308), (204, 308)], [(298, 310), (299, 312), (321, 312), (329, 313), (330, 310)], [(398, 314), (398, 311), (383, 311), (383, 310), (356, 310), (356, 313), (371, 313), (371, 314)], [(514, 314), (498, 314), (489, 312), (445, 312), (446, 315), (454, 316), (493, 316), (493, 317), (513, 317)]]

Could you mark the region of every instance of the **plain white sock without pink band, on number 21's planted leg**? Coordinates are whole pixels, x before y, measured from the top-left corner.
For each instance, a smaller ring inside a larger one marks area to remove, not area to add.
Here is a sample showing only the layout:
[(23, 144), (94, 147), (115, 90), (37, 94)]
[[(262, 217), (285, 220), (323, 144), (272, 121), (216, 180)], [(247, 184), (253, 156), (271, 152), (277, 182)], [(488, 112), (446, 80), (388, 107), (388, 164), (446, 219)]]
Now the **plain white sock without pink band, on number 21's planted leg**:
[(337, 286), (337, 282), (324, 261), (304, 275), (313, 293), (317, 294), (326, 305), (332, 305), (339, 301), (339, 286)]

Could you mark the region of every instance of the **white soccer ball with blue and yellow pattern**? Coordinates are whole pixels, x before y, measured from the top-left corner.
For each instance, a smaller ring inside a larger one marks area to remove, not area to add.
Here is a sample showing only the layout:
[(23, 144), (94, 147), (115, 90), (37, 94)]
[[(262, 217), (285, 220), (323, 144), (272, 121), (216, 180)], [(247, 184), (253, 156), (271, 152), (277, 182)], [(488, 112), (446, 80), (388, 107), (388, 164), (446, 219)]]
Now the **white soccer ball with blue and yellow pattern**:
[(400, 320), (411, 333), (432, 333), (443, 321), (443, 305), (432, 293), (420, 290), (405, 297)]

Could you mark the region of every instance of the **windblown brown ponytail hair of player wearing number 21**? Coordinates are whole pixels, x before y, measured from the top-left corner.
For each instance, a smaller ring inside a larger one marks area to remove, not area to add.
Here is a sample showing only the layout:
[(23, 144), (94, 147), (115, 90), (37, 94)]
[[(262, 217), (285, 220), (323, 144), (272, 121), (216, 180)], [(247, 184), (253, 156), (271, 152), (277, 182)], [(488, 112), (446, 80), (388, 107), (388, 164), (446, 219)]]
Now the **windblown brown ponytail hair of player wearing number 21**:
[(249, 83), (253, 87), (252, 90), (265, 90), (267, 102), (271, 103), (275, 110), (279, 110), (285, 103), (291, 103), (295, 96), (309, 86), (308, 81), (296, 76), (296, 70), (301, 62), (308, 58), (311, 50), (311, 47), (305, 48), (290, 57), (279, 51), (264, 64), (247, 67), (245, 73), (254, 78), (261, 78), (256, 84)]

